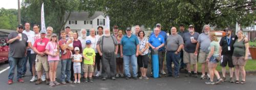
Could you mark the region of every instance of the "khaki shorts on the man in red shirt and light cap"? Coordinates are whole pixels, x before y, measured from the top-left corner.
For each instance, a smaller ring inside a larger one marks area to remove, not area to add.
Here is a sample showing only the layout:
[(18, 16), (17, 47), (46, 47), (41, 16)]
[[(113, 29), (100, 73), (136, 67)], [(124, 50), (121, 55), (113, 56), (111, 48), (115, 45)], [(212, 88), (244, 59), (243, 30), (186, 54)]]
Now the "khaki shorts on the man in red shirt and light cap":
[(45, 71), (49, 71), (49, 64), (48, 64), (48, 57), (45, 56), (40, 56), (36, 55), (35, 58), (35, 70), (36, 71), (41, 71), (42, 68), (44, 68)]

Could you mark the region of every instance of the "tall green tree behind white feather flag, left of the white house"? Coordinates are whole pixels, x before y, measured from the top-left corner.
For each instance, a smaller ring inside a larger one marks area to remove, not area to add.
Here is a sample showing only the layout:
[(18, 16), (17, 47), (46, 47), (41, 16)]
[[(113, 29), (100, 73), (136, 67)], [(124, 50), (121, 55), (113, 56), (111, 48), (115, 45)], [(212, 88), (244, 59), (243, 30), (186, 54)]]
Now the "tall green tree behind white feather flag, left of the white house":
[(44, 3), (45, 23), (54, 28), (54, 33), (63, 30), (68, 16), (72, 11), (76, 11), (79, 6), (79, 0), (24, 0), (22, 3), (22, 23), (41, 24), (41, 5)]

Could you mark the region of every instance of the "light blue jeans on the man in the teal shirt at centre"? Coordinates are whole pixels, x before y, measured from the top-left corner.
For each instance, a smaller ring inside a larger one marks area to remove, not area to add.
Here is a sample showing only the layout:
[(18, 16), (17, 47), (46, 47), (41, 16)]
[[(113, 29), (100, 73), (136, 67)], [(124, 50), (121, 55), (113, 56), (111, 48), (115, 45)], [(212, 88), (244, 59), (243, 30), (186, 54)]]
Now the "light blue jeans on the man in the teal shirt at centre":
[(124, 73), (126, 77), (131, 77), (130, 74), (130, 61), (133, 69), (133, 77), (137, 77), (137, 57), (133, 55), (123, 55)]

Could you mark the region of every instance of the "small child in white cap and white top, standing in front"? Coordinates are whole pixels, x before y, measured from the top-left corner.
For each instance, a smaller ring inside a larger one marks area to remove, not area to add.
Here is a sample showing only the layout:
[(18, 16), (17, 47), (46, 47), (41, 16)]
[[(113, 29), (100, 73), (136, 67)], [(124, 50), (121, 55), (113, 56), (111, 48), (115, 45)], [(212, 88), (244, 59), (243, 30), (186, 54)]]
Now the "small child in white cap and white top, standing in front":
[[(74, 62), (74, 64), (73, 64), (74, 76), (75, 76), (74, 83), (80, 83), (82, 55), (79, 53), (78, 47), (75, 47), (74, 50), (75, 50), (75, 54), (73, 55), (73, 59), (72, 59), (72, 62)], [(77, 78), (77, 76), (78, 76), (78, 78)]]

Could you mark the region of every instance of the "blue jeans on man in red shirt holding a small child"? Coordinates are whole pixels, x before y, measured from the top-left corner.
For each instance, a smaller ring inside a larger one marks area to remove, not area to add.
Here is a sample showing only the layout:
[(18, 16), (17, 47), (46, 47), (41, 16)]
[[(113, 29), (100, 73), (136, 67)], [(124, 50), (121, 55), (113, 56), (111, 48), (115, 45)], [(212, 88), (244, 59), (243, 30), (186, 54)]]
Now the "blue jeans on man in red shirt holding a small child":
[(71, 59), (61, 59), (61, 82), (65, 81), (65, 74), (67, 74), (67, 81), (70, 81), (71, 62)]

